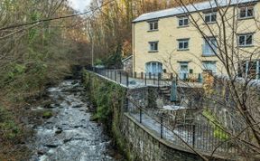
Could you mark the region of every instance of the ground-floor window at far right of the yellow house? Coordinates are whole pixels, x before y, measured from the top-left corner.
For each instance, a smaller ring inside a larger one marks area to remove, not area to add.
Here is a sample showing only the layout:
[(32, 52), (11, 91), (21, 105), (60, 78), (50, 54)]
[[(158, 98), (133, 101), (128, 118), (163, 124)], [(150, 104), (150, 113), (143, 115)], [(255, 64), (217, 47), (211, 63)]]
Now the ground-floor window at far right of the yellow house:
[(238, 77), (260, 80), (260, 60), (240, 62)]

